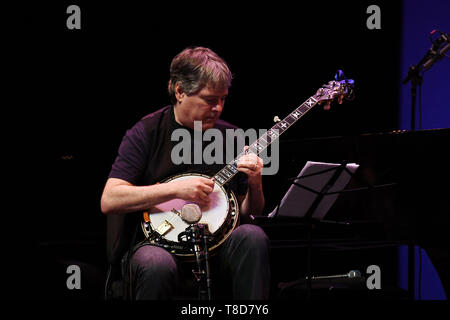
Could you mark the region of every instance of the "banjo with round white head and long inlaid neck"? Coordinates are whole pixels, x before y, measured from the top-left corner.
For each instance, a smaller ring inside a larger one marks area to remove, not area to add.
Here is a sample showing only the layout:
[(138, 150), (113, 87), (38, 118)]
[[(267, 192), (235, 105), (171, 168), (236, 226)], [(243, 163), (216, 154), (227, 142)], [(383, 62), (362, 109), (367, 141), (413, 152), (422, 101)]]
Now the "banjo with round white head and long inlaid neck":
[[(350, 99), (352, 96), (353, 80), (345, 79), (344, 74), (339, 70), (335, 81), (330, 81), (322, 86), (315, 95), (307, 99), (286, 118), (278, 119), (270, 130), (253, 142), (245, 152), (227, 163), (214, 177), (200, 173), (186, 173), (161, 181), (161, 183), (170, 183), (204, 177), (214, 179), (214, 189), (209, 194), (211, 201), (207, 207), (202, 208), (201, 212), (196, 204), (182, 199), (172, 199), (144, 211), (141, 226), (147, 240), (166, 248), (177, 256), (190, 258), (194, 252), (190, 246), (185, 245), (186, 241), (183, 236), (191, 225), (198, 223), (207, 227), (208, 250), (213, 251), (219, 247), (230, 236), (239, 221), (238, 201), (227, 183), (238, 173), (237, 166), (240, 157), (246, 153), (260, 154), (319, 102), (331, 102), (337, 97)], [(194, 218), (192, 219), (192, 217)]]

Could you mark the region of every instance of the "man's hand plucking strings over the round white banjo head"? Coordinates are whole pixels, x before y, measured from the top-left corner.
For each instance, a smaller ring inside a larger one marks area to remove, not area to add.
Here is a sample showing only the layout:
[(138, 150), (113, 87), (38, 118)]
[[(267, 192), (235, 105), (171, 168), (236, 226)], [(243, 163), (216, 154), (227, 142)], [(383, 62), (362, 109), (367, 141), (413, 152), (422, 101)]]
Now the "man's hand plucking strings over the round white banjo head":
[(208, 195), (214, 190), (214, 181), (207, 178), (192, 178), (169, 182), (172, 185), (176, 198), (197, 203), (200, 207), (210, 202)]

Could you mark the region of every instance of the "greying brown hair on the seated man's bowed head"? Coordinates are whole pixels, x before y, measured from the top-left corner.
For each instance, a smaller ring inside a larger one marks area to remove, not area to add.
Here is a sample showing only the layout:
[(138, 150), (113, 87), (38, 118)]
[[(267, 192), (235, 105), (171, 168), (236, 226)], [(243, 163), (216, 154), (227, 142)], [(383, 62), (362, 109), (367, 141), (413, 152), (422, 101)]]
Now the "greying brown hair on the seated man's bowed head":
[(226, 62), (214, 51), (204, 47), (189, 47), (173, 58), (170, 64), (169, 97), (173, 104), (178, 83), (188, 96), (204, 87), (229, 88), (233, 78)]

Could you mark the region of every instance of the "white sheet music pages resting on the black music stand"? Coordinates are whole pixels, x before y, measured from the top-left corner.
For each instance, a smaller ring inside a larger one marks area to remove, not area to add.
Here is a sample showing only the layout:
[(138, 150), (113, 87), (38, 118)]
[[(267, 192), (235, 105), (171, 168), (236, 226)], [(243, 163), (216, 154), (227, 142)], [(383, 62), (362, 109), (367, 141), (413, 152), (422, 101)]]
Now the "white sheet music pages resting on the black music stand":
[[(302, 178), (295, 180), (295, 182), (312, 190), (320, 192), (333, 176), (335, 170), (319, 173), (310, 177), (308, 175), (330, 168), (337, 168), (340, 165), (341, 164), (337, 163), (308, 161), (297, 176), (297, 178)], [(355, 173), (358, 167), (359, 165), (356, 163), (348, 163), (346, 165), (346, 168), (351, 173)], [(336, 182), (328, 190), (328, 192), (342, 191), (350, 181), (350, 178), (350, 174), (347, 171), (343, 170)], [(293, 184), (290, 186), (289, 190), (281, 200), (280, 208), (278, 209), (278, 215), (285, 217), (304, 217), (317, 196), (318, 194)], [(314, 211), (312, 217), (322, 220), (327, 214), (328, 210), (330, 210), (331, 206), (334, 204), (338, 196), (339, 194), (325, 195)], [(269, 217), (274, 217), (276, 214), (277, 207), (275, 207), (275, 209), (269, 214)]]

